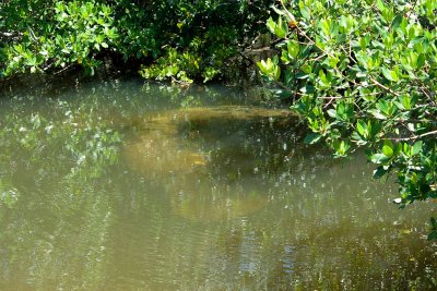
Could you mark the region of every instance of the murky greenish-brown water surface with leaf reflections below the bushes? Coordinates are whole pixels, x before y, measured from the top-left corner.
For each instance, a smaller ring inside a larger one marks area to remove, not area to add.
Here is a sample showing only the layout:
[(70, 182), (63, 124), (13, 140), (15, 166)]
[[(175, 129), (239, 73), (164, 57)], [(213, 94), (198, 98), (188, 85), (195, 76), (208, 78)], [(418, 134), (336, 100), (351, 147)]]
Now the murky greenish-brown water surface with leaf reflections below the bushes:
[[(0, 290), (433, 290), (435, 204), (223, 87), (2, 98)], [(196, 107), (191, 108), (190, 107)]]

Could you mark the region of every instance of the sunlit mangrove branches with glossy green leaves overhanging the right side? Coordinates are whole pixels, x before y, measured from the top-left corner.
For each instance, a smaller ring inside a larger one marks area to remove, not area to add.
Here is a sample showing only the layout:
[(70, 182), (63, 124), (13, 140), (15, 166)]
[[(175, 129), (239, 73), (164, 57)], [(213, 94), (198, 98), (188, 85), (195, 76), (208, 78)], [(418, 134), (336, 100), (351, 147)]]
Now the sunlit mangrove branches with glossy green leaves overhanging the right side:
[[(437, 198), (437, 1), (280, 1), (281, 57), (259, 63), (336, 157), (397, 174), (401, 207)], [(429, 239), (437, 239), (432, 219)]]

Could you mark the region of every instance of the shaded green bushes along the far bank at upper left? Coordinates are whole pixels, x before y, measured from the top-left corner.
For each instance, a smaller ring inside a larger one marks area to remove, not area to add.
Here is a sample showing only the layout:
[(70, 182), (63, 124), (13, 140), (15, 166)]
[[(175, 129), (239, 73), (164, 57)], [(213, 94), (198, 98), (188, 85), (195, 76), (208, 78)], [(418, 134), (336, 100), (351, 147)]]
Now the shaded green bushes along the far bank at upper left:
[(217, 78), (265, 28), (272, 2), (1, 1), (0, 78), (78, 65), (92, 74), (105, 57), (142, 64), (150, 78)]

